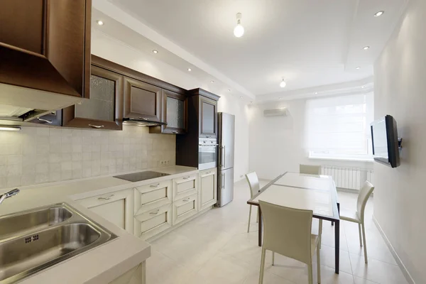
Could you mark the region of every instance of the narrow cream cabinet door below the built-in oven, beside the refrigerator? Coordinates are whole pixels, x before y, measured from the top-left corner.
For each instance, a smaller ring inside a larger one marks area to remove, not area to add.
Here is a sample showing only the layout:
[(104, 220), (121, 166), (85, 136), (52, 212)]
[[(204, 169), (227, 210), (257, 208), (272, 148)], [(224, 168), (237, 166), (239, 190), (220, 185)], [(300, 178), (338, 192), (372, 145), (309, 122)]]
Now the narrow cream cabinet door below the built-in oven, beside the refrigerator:
[(217, 202), (217, 169), (200, 171), (198, 198), (200, 211), (212, 207)]

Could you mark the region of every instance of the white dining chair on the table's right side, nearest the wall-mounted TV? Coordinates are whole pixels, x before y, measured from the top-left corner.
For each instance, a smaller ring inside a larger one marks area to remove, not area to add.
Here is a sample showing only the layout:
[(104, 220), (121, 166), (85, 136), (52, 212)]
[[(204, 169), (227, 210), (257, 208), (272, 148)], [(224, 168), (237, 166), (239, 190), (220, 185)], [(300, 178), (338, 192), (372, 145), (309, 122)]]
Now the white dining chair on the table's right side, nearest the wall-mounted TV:
[[(366, 209), (366, 204), (368, 197), (373, 193), (374, 185), (371, 182), (364, 182), (363, 187), (359, 190), (358, 199), (356, 200), (356, 211), (346, 211), (342, 209), (340, 212), (340, 219), (344, 221), (358, 223), (359, 231), (359, 245), (363, 246), (364, 243), (364, 261), (368, 263), (367, 258), (367, 244), (366, 244), (366, 226), (364, 219), (364, 211)], [(362, 227), (362, 239), (361, 239), (361, 227)]]

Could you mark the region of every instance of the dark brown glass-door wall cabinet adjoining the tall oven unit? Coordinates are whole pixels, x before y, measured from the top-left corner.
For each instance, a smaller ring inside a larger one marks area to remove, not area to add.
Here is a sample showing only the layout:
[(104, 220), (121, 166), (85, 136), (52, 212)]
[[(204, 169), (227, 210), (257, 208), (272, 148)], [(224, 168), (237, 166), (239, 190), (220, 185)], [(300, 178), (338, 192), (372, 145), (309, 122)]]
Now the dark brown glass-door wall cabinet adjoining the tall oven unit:
[(162, 121), (167, 125), (151, 126), (150, 133), (183, 134), (188, 124), (188, 99), (184, 94), (163, 89), (161, 99)]

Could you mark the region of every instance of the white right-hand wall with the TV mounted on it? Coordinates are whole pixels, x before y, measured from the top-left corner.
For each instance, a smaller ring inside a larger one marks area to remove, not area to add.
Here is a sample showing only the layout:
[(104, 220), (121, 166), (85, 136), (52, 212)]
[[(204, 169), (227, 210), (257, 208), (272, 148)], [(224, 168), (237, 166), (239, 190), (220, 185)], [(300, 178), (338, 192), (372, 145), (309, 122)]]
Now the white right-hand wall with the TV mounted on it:
[(375, 164), (374, 216), (416, 283), (426, 283), (426, 1), (411, 0), (374, 65), (375, 116), (403, 138), (399, 168)]

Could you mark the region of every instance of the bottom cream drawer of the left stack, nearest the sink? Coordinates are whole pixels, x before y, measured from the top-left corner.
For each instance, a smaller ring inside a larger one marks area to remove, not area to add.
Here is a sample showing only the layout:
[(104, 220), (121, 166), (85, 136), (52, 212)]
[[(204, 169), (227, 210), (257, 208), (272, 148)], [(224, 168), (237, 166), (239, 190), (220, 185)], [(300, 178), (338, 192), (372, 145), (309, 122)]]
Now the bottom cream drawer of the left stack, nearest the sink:
[(172, 226), (172, 204), (151, 209), (134, 218), (135, 235), (149, 239)]

